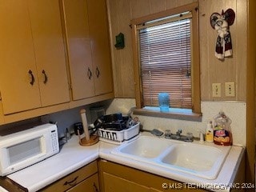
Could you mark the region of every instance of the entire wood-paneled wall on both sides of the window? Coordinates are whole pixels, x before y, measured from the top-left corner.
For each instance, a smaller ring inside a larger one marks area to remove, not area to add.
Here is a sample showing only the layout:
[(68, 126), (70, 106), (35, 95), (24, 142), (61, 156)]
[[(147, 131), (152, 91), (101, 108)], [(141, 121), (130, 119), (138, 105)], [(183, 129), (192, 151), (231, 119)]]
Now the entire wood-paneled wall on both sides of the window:
[[(245, 0), (107, 0), (110, 16), (110, 35), (116, 98), (134, 98), (134, 66), (130, 20), (162, 10), (199, 2), (200, 66), (202, 101), (246, 101), (246, 1)], [(233, 57), (224, 62), (214, 56), (217, 32), (210, 26), (210, 15), (231, 8), (236, 14), (230, 26)], [(125, 34), (126, 47), (116, 50), (115, 36)], [(222, 97), (213, 98), (211, 84), (222, 83)], [(235, 97), (225, 97), (225, 82), (235, 82)]]

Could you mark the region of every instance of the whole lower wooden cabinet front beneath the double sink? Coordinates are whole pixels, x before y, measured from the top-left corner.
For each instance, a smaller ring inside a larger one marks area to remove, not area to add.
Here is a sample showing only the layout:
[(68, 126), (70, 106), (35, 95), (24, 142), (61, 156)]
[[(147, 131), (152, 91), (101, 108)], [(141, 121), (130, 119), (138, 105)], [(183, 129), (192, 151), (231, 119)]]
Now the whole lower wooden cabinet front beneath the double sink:
[(182, 182), (122, 166), (114, 162), (108, 162), (104, 159), (99, 161), (99, 175), (102, 192), (208, 191), (188, 188)]

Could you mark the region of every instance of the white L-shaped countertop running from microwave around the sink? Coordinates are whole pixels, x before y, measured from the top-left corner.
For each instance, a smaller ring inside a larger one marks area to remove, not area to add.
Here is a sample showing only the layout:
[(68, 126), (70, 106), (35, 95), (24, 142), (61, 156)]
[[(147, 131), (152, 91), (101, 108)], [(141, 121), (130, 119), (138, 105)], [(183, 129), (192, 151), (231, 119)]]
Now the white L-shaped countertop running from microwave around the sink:
[[(242, 153), (244, 153), (244, 149), (242, 147), (232, 146), (230, 153), (226, 158), (226, 162), (223, 164), (222, 170), (218, 174), (218, 178), (208, 180), (174, 170), (166, 170), (159, 166), (138, 162), (129, 158), (119, 157), (110, 153), (110, 151), (115, 147), (117, 147), (117, 145), (106, 142), (98, 142), (94, 146), (80, 146), (78, 144), (78, 137), (74, 135), (70, 141), (63, 146), (60, 153), (55, 154), (42, 162), (38, 162), (33, 166), (19, 170), (14, 174), (10, 174), (7, 177), (27, 188), (27, 190), (34, 192), (48, 186), (52, 182), (57, 181), (59, 178), (74, 172), (74, 170), (78, 170), (82, 166), (86, 166), (86, 164), (93, 162), (97, 158), (104, 158), (112, 162), (131, 166), (138, 170), (144, 170), (153, 174), (158, 174), (162, 177), (178, 180), (180, 182), (194, 184), (202, 183), (207, 185), (217, 184), (215, 187), (216, 189), (208, 190), (224, 192), (229, 191), (230, 189), (226, 188), (226, 186), (222, 186), (222, 184), (230, 184), (233, 182), (234, 173), (238, 168), (237, 162), (240, 161)], [(219, 190), (220, 188), (221, 190)]]

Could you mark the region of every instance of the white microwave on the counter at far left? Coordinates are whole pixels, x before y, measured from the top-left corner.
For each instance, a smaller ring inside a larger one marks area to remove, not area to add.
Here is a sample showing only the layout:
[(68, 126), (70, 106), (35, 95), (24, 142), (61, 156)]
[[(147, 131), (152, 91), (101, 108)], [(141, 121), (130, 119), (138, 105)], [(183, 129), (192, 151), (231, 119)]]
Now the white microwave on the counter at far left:
[(58, 131), (54, 124), (0, 136), (0, 175), (11, 174), (58, 152)]

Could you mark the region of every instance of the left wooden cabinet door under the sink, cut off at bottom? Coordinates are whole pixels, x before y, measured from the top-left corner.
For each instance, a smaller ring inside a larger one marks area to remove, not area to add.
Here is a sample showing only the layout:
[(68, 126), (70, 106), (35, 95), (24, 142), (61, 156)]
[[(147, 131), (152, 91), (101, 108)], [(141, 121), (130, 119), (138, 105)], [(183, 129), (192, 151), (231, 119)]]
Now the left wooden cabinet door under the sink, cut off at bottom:
[(150, 192), (150, 188), (119, 178), (113, 174), (103, 173), (105, 192)]

